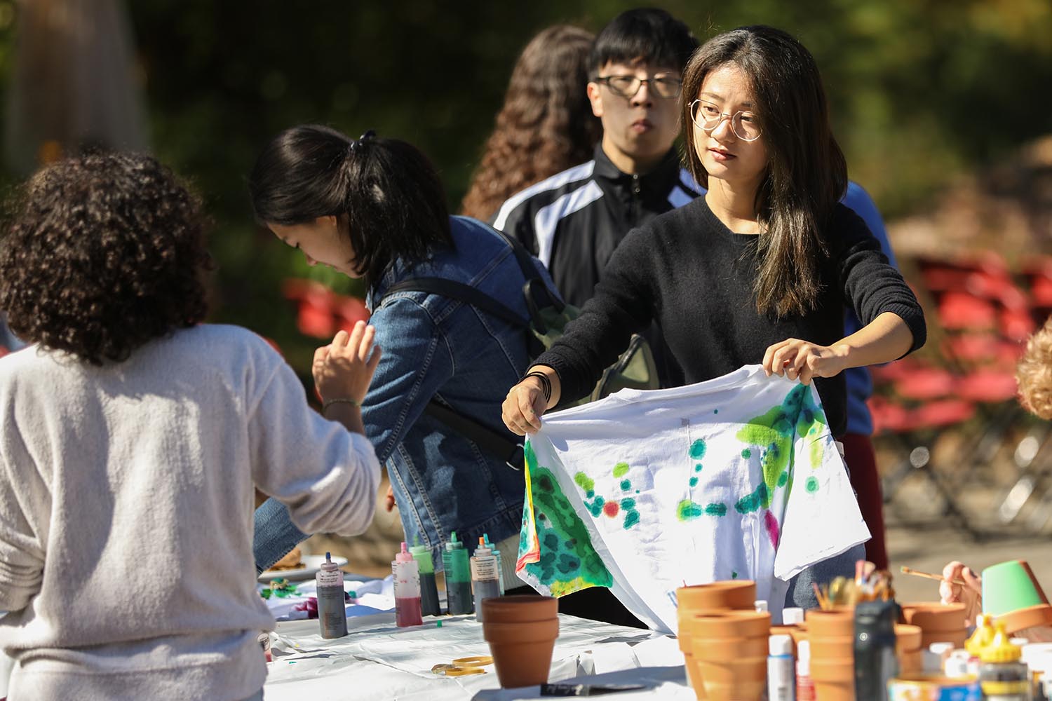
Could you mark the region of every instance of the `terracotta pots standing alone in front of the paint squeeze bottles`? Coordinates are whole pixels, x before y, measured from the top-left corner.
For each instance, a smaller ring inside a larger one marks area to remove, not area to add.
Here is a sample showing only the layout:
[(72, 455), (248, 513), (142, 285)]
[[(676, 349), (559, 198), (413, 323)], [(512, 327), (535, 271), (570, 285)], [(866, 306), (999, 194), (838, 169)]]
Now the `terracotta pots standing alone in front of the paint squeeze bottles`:
[(502, 596), (482, 600), (482, 634), (501, 686), (548, 681), (559, 637), (559, 601), (549, 596)]

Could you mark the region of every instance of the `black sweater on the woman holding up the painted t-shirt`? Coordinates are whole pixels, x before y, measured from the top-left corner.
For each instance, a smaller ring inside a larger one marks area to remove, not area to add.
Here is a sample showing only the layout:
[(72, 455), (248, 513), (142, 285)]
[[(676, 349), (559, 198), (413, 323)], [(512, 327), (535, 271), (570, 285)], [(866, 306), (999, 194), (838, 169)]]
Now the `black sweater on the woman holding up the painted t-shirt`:
[[(825, 239), (829, 257), (820, 266), (817, 308), (774, 319), (756, 311), (756, 236), (730, 231), (699, 198), (625, 236), (595, 296), (535, 363), (555, 369), (564, 400), (579, 398), (594, 387), (629, 336), (655, 319), (686, 383), (693, 384), (762, 363), (767, 348), (786, 338), (833, 345), (844, 337), (845, 305), (864, 325), (883, 312), (897, 314), (913, 333), (910, 352), (923, 346), (920, 306), (863, 220), (836, 205)], [(818, 377), (815, 386), (830, 430), (842, 435), (847, 425), (843, 374)]]

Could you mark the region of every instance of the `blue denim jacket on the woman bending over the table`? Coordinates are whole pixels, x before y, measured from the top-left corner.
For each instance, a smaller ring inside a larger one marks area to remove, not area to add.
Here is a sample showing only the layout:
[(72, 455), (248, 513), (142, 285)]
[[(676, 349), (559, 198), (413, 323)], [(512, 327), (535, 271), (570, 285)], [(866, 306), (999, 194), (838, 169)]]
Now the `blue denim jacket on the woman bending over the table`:
[[(484, 533), (492, 542), (518, 533), (524, 494), (522, 472), (424, 409), (438, 397), (465, 416), (506, 430), (501, 404), (526, 369), (526, 331), (457, 300), (425, 292), (384, 295), (412, 277), (444, 277), (471, 285), (527, 317), (525, 281), (510, 246), (472, 219), (451, 217), (450, 228), (453, 248), (440, 249), (411, 269), (394, 261), (366, 296), (383, 354), (362, 408), (365, 432), (387, 467), (406, 540), (419, 538), (430, 548), (436, 565), (453, 531), (469, 550)], [(553, 290), (547, 271), (535, 260), (534, 265)], [(306, 537), (272, 499), (260, 507), (256, 525), (258, 568), (269, 566)]]

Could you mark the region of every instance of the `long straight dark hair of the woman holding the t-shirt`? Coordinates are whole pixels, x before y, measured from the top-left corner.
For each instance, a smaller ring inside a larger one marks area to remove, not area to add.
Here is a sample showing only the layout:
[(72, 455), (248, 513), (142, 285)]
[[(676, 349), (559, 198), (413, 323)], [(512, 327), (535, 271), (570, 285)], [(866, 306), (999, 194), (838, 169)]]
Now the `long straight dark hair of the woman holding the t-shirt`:
[(761, 229), (756, 309), (778, 317), (804, 314), (814, 309), (822, 292), (818, 262), (828, 255), (825, 230), (848, 184), (822, 77), (803, 44), (769, 26), (740, 27), (697, 49), (684, 71), (681, 121), (687, 165), (706, 187), (708, 172), (695, 149), (690, 103), (705, 77), (728, 63), (751, 83), (769, 159), (755, 202)]

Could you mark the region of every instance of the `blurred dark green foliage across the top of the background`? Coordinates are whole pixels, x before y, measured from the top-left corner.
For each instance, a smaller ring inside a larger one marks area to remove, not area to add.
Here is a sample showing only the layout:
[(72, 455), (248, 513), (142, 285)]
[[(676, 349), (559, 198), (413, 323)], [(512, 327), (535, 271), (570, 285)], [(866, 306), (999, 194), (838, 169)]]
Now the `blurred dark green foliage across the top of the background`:
[[(308, 269), (250, 221), (245, 173), (303, 122), (376, 128), (428, 153), (456, 210), (526, 42), (559, 22), (598, 30), (624, 0), (494, 3), (128, 0), (156, 153), (204, 194), (217, 227), (217, 321), (278, 341), (306, 368), (286, 276)], [(1048, 0), (736, 0), (662, 4), (700, 40), (765, 23), (796, 35), (823, 70), (854, 180), (890, 217), (920, 210), (962, 172), (1052, 131)], [(0, 0), (0, 90), (17, 13)]]

